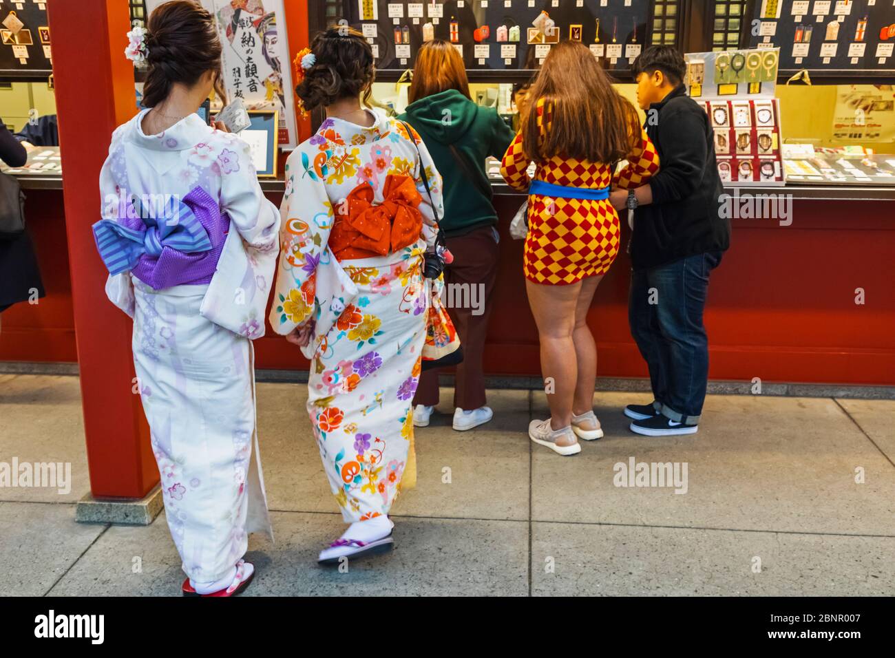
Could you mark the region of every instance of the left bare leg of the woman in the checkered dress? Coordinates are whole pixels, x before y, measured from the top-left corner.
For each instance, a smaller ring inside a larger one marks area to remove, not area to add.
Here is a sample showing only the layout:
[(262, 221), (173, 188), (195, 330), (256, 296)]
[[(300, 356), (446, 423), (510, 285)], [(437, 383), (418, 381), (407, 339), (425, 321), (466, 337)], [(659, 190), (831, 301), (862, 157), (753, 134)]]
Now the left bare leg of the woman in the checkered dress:
[(525, 279), (525, 289), (541, 341), (541, 373), (553, 389), (547, 394), (550, 427), (560, 430), (572, 423), (572, 398), (578, 375), (572, 333), (581, 282), (550, 286)]

